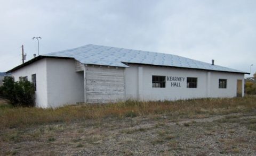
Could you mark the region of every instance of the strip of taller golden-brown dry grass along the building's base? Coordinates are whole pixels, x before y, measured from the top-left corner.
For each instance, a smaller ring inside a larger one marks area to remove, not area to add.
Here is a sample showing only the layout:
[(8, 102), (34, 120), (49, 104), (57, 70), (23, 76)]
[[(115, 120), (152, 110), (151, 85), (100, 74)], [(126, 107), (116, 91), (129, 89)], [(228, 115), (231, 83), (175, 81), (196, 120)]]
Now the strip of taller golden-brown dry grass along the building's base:
[[(168, 116), (173, 119), (248, 112), (256, 109), (256, 97), (193, 99), (178, 101), (126, 101), (105, 105), (76, 105), (56, 109), (12, 108), (0, 105), (0, 128), (28, 127), (84, 119), (134, 116)], [(254, 127), (252, 127), (254, 129)]]

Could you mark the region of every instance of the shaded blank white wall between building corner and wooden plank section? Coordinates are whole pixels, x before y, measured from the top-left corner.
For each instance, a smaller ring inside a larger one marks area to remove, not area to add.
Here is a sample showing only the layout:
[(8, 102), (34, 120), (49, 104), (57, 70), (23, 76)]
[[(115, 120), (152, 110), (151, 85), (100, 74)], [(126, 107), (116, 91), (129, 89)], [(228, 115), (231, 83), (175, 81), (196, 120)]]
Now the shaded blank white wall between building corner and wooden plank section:
[(46, 58), (48, 107), (84, 102), (84, 74), (74, 59)]

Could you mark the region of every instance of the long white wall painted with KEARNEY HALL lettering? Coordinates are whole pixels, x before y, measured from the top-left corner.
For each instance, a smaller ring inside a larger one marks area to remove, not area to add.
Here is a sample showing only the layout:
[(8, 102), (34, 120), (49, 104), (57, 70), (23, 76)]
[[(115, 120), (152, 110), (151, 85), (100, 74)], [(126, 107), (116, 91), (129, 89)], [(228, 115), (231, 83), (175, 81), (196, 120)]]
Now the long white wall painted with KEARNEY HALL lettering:
[[(244, 74), (236, 73), (209, 73), (209, 71), (201, 70), (132, 64), (129, 64), (129, 66), (130, 68), (125, 68), (126, 99), (147, 101), (236, 97), (237, 80), (244, 80)], [(152, 88), (152, 75), (185, 77), (185, 81), (178, 82), (181, 87), (171, 86), (172, 81), (166, 81), (165, 88)], [(197, 77), (197, 88), (187, 88), (187, 77)], [(227, 79), (227, 89), (219, 89), (219, 79)], [(141, 85), (142, 90), (140, 89)]]

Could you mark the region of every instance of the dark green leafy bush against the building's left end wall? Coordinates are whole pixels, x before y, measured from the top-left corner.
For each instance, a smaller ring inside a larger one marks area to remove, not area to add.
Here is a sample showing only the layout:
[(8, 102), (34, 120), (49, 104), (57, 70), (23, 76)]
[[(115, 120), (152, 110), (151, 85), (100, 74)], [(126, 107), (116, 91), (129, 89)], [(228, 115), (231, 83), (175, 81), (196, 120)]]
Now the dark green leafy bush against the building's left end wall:
[(13, 106), (33, 107), (35, 105), (35, 89), (27, 80), (15, 82), (13, 77), (5, 76), (0, 87), (0, 97), (7, 99)]

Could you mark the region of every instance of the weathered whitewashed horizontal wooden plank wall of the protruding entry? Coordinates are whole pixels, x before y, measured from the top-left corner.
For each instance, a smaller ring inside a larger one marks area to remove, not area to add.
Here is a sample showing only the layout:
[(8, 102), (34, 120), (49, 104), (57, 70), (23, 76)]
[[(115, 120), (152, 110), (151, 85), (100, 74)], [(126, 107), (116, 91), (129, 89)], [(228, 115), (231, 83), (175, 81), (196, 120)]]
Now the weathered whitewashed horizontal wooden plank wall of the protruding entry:
[(124, 68), (87, 66), (86, 97), (88, 103), (124, 101)]

